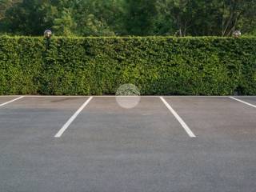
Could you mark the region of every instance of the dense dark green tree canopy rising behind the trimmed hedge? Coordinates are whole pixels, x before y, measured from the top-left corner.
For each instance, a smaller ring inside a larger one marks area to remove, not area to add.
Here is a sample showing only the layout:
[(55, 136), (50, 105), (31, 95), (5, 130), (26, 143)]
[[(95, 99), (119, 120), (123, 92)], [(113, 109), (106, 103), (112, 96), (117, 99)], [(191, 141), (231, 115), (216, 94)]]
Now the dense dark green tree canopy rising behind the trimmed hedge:
[(62, 36), (256, 34), (255, 0), (0, 0), (0, 33)]

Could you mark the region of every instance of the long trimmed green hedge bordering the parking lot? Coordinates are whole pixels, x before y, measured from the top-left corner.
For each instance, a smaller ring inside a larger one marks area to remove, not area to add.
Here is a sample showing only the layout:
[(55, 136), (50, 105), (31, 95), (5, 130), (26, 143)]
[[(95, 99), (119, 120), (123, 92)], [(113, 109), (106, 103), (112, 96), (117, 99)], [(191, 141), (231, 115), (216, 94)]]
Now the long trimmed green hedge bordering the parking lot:
[(0, 37), (0, 94), (256, 94), (256, 38)]

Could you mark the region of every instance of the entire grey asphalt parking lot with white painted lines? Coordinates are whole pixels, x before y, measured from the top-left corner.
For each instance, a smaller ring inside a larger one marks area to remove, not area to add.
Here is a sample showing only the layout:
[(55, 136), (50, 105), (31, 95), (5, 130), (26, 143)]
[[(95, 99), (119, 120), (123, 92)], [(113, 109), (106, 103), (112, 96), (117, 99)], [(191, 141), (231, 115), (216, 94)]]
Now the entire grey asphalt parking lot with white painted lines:
[(0, 191), (256, 189), (256, 97), (2, 96), (0, 133)]

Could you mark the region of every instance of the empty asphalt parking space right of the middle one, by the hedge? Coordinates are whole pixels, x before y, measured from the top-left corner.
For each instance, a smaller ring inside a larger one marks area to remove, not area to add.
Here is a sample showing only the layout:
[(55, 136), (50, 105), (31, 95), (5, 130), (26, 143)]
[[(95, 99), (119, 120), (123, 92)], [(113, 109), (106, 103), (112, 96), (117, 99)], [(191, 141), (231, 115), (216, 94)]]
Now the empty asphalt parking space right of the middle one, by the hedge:
[(254, 140), (256, 110), (228, 97), (167, 97), (200, 138)]

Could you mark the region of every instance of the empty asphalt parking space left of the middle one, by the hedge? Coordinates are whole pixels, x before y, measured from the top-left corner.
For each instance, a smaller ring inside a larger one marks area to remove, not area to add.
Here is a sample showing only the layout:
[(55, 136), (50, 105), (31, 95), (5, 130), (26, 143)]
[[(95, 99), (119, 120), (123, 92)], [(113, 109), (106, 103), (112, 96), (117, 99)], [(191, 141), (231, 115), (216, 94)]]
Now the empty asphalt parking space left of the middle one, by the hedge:
[[(10, 97), (9, 101), (13, 99)], [(84, 100), (85, 98), (27, 97), (2, 106), (0, 151), (14, 144), (29, 145), (32, 141), (41, 141), (40, 139), (48, 141)]]

